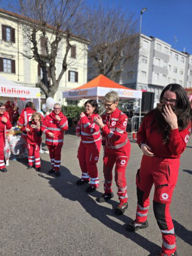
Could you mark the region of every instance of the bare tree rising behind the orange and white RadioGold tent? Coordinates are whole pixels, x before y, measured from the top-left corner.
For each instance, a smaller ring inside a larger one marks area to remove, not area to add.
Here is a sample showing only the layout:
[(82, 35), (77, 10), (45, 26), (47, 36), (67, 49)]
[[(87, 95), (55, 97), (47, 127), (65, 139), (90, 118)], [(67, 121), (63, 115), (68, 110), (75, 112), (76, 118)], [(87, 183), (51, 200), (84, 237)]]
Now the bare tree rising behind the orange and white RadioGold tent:
[(87, 10), (84, 17), (84, 36), (90, 40), (89, 71), (111, 79), (119, 77), (125, 65), (133, 65), (138, 48), (137, 21), (121, 8), (104, 8), (102, 4)]

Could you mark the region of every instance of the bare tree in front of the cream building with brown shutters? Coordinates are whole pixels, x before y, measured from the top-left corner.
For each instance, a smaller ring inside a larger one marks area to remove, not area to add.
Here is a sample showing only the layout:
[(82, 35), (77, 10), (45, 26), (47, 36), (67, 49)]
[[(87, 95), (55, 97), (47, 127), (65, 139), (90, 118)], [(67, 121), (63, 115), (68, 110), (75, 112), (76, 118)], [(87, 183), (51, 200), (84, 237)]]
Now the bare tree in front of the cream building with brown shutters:
[[(41, 68), (42, 78), (36, 86), (46, 98), (54, 97), (69, 65), (70, 42), (80, 39), (73, 33), (78, 31), (82, 0), (19, 0), (19, 11), (26, 17), (20, 19), (23, 55), (34, 58)], [(61, 69), (56, 72), (59, 58)]]

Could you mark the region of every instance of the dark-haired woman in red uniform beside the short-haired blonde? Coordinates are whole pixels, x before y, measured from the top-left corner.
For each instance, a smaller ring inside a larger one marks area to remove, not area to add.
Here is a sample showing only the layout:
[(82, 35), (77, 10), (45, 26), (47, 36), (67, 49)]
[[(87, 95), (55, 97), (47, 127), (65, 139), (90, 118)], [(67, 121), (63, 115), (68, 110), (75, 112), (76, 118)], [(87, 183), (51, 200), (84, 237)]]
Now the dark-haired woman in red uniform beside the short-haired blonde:
[(82, 185), (90, 181), (90, 186), (86, 189), (86, 192), (90, 193), (99, 186), (96, 163), (99, 159), (101, 136), (99, 126), (94, 123), (94, 117), (98, 116), (96, 100), (87, 100), (84, 106), (85, 112), (80, 114), (80, 120), (76, 128), (76, 135), (81, 136), (82, 139), (77, 155), (82, 170), (82, 178), (76, 184)]

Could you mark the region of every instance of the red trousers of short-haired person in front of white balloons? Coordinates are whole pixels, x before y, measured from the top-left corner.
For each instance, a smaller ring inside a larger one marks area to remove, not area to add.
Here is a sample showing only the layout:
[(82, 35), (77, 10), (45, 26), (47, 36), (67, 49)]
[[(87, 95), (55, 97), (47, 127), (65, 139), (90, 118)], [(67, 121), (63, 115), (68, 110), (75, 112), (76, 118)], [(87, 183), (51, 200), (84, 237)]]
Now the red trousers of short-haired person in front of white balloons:
[(59, 171), (59, 167), (61, 164), (61, 149), (62, 145), (47, 145), (49, 149), (49, 156), (51, 159), (52, 167), (55, 171)]

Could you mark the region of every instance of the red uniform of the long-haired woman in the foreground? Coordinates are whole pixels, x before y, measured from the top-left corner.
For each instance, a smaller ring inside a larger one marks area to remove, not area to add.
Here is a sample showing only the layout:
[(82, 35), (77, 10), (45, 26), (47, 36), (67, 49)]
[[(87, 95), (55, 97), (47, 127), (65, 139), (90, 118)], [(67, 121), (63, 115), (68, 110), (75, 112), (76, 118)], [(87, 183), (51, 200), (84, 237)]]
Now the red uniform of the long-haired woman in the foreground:
[(169, 206), (173, 190), (178, 179), (179, 158), (185, 150), (191, 125), (183, 130), (170, 130), (169, 140), (163, 144), (163, 134), (158, 132), (157, 124), (151, 129), (155, 112), (144, 117), (137, 132), (137, 143), (146, 143), (151, 147), (154, 157), (143, 155), (141, 167), (137, 171), (137, 213), (136, 220), (147, 220), (150, 205), (149, 196), (154, 184), (153, 211), (162, 232), (162, 248), (166, 254), (176, 251), (176, 237)]

